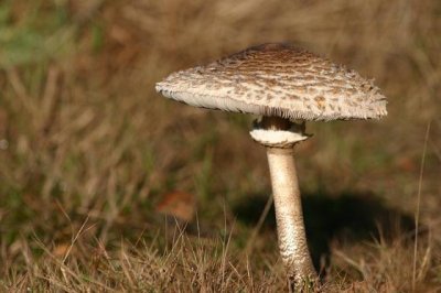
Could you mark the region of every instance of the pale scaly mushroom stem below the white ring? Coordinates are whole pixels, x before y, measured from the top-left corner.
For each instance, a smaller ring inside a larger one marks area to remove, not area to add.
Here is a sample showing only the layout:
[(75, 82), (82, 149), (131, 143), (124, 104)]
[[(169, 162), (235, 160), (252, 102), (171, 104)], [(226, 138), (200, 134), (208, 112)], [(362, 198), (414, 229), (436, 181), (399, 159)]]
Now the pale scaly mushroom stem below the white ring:
[(308, 249), (293, 149), (267, 148), (279, 249), (289, 276), (303, 287), (316, 280)]

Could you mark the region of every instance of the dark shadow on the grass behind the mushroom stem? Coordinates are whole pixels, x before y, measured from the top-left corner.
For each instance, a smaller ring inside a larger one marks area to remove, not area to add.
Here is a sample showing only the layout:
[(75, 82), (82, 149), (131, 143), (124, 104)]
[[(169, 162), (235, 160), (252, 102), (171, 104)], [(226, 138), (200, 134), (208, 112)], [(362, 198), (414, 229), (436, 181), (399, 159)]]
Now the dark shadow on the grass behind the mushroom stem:
[[(268, 195), (245, 196), (233, 206), (233, 210), (239, 221), (255, 226), (267, 200)], [(308, 243), (315, 268), (321, 267), (321, 259), (327, 264), (330, 242), (333, 239), (355, 242), (381, 237), (391, 240), (397, 232), (415, 229), (413, 217), (386, 206), (372, 193), (344, 193), (338, 196), (324, 192), (302, 194), (302, 207)], [(262, 229), (276, 234), (273, 205)]]

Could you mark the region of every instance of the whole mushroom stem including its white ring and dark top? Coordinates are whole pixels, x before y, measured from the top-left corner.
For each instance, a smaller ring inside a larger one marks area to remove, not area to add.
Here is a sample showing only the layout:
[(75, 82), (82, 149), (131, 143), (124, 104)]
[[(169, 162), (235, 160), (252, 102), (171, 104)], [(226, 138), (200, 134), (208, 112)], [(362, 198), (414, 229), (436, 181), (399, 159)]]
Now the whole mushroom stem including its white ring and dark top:
[(318, 279), (308, 249), (293, 156), (294, 144), (309, 135), (304, 124), (276, 117), (263, 117), (250, 134), (267, 148), (280, 254), (293, 285), (302, 290)]

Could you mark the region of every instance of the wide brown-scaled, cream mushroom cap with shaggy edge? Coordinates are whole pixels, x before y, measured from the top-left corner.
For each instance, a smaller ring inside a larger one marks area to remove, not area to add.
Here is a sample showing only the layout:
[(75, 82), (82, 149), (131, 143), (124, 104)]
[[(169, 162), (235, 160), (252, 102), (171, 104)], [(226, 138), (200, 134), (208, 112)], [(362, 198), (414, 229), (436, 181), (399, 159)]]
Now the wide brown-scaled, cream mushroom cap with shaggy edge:
[(168, 98), (202, 108), (290, 120), (378, 119), (386, 97), (373, 80), (288, 44), (249, 47), (157, 84)]

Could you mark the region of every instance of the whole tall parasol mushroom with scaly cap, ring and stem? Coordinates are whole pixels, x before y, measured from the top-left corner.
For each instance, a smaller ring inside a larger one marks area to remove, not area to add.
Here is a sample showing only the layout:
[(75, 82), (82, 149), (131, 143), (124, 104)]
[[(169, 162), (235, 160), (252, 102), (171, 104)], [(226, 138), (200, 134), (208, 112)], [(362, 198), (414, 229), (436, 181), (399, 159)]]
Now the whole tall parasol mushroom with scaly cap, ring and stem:
[(155, 89), (195, 107), (261, 116), (250, 135), (267, 150), (280, 254), (294, 287), (313, 283), (293, 146), (310, 137), (306, 120), (386, 116), (379, 88), (313, 53), (269, 43), (173, 73)]

